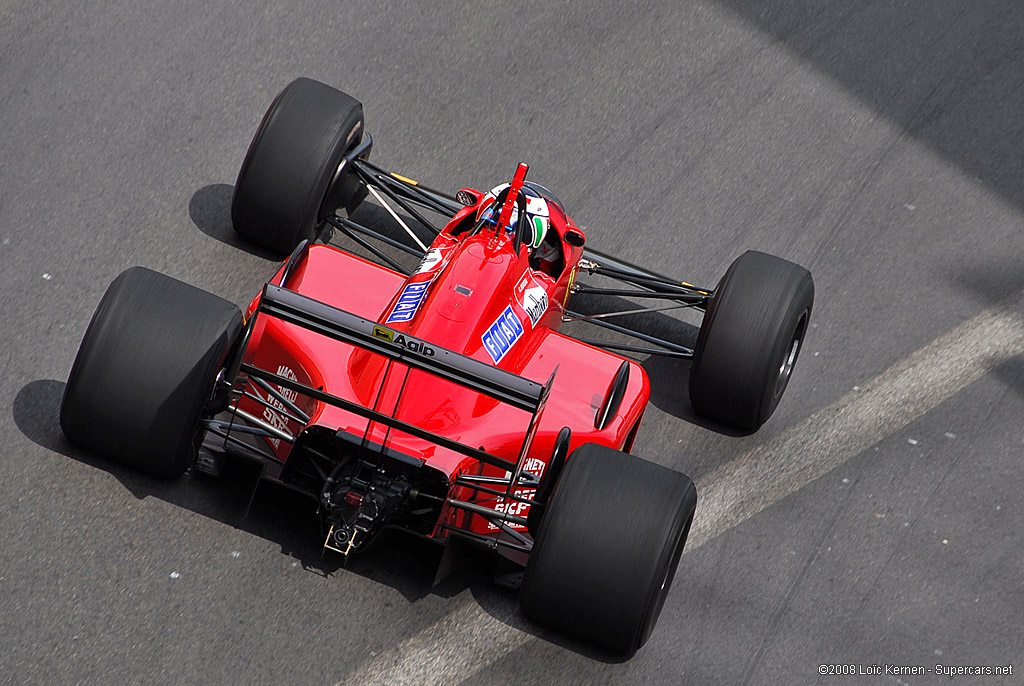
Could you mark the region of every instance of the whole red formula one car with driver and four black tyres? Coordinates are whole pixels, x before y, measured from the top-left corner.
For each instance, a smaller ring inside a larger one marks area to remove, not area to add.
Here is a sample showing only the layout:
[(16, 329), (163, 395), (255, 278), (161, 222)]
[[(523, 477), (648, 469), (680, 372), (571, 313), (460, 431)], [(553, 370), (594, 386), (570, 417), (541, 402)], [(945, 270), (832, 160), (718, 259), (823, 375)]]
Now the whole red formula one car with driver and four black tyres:
[[(324, 546), (342, 555), (387, 526), (493, 549), (520, 569), (529, 617), (632, 654), (669, 592), (696, 491), (629, 454), (650, 385), (620, 353), (691, 358), (694, 410), (756, 429), (797, 361), (810, 273), (748, 252), (717, 288), (690, 286), (589, 250), (524, 165), (488, 192), (450, 196), (372, 164), (371, 146), (356, 100), (307, 79), (285, 88), (231, 216), (287, 261), (245, 316), (168, 276), (123, 272), (68, 380), (65, 433), (168, 478), (249, 456), (315, 499)], [(394, 234), (349, 218), (369, 194)], [(383, 265), (331, 245), (341, 235)], [(574, 312), (580, 293), (702, 311), (696, 345), (608, 321), (621, 312)], [(617, 340), (559, 333), (574, 318)]]

